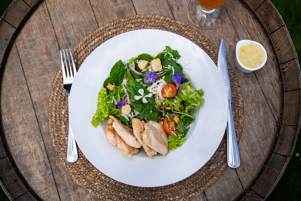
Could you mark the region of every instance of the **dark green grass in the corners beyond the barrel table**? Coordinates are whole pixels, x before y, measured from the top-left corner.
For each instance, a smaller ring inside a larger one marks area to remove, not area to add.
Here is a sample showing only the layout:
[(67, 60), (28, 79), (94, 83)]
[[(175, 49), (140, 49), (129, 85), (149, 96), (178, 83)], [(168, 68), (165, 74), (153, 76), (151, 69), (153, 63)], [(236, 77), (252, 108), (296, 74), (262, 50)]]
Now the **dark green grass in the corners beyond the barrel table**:
[[(297, 55), (301, 55), (301, 0), (271, 0), (283, 18)], [(8, 8), (12, 0), (0, 0), (0, 16)], [(300, 132), (299, 132), (300, 136)], [(242, 159), (243, 160), (243, 159)], [(301, 200), (301, 139), (297, 140), (296, 147), (287, 168), (276, 185), (275, 189), (266, 199), (267, 201), (297, 201)], [(8, 201), (8, 197), (0, 188), (0, 201)]]

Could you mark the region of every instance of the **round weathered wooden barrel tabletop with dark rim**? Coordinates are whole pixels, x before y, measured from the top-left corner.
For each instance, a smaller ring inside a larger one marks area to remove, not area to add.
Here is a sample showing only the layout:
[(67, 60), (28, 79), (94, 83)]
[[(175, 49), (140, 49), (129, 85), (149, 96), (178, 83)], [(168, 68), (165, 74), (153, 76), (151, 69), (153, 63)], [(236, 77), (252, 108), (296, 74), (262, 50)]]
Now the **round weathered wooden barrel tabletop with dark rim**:
[[(0, 184), (12, 200), (98, 200), (66, 173), (48, 131), (48, 100), (59, 50), (113, 20), (161, 15), (193, 27), (188, 0), (14, 0), (0, 20)], [(262, 200), (293, 152), (300, 124), (300, 71), (284, 22), (269, 0), (229, 0), (224, 22), (200, 30), (216, 47), (225, 40), (241, 87), (244, 127), (240, 167), (227, 168), (192, 200)], [(241, 39), (261, 43), (267, 63), (253, 73), (234, 64)], [(47, 73), (45, 73), (47, 71)]]

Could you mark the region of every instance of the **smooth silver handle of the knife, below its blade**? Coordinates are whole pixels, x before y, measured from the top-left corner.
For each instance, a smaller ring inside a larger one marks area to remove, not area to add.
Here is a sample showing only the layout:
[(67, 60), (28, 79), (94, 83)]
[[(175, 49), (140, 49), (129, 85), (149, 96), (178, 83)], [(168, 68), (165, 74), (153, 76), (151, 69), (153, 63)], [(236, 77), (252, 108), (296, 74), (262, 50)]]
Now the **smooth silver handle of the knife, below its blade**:
[(228, 166), (237, 168), (240, 165), (238, 146), (234, 128), (234, 120), (231, 105), (229, 104), (228, 124), (227, 124), (227, 159)]

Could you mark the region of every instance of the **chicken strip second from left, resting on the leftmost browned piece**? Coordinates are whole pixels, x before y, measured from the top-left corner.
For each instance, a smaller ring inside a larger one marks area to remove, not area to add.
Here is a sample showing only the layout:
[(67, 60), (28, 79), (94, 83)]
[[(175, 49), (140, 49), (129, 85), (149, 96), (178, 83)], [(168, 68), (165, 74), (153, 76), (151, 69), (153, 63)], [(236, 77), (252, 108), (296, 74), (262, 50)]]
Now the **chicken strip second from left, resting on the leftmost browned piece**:
[(114, 120), (114, 129), (116, 130), (118, 135), (126, 142), (127, 145), (135, 147), (137, 149), (141, 147), (141, 143), (137, 140), (131, 128), (123, 125), (119, 119), (111, 115), (109, 117)]

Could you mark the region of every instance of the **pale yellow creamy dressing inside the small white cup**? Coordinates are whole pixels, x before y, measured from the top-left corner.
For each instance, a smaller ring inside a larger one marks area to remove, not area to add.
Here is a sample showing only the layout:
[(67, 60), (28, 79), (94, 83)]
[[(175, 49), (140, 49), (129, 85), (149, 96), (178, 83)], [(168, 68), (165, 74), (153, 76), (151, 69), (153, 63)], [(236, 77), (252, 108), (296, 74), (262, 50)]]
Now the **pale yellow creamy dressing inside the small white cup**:
[(240, 47), (238, 57), (247, 68), (256, 68), (263, 61), (263, 52), (254, 44), (246, 44)]

